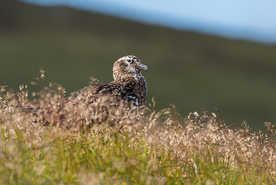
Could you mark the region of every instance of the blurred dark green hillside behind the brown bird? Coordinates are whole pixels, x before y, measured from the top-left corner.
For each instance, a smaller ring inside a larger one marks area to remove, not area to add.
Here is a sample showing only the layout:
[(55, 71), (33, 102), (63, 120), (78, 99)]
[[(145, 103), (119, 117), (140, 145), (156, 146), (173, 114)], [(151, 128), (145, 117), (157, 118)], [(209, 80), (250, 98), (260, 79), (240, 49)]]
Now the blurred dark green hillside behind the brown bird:
[(142, 74), (158, 109), (175, 103), (186, 116), (217, 107), (226, 123), (246, 120), (254, 130), (276, 123), (276, 46), (14, 2), (13, 17), (0, 15), (0, 85), (39, 90), (30, 82), (43, 68), (44, 85), (60, 83), (69, 96), (89, 76), (111, 82), (114, 61), (135, 55), (150, 69)]

